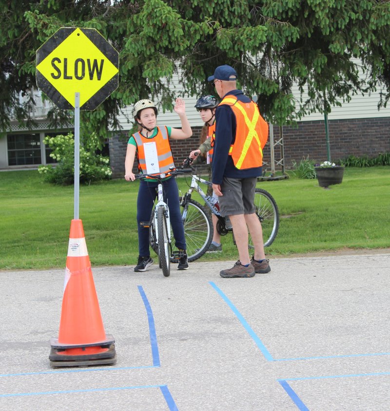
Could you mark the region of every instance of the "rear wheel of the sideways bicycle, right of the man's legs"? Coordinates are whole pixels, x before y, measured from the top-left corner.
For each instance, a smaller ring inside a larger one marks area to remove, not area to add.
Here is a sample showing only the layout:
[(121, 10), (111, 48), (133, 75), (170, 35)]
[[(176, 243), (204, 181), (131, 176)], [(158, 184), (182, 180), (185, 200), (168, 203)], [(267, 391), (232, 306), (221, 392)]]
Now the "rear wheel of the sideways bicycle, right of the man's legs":
[[(254, 206), (263, 230), (264, 247), (267, 247), (273, 243), (279, 229), (279, 210), (273, 196), (261, 188), (255, 189)], [(251, 235), (249, 235), (249, 248), (254, 249)]]

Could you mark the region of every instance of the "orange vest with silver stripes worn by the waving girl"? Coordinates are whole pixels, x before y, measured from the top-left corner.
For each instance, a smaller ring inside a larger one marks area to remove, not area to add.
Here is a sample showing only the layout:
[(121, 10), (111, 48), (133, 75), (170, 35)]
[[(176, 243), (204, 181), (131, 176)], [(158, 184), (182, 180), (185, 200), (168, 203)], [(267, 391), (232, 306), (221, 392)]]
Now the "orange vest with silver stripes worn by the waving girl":
[(154, 141), (156, 143), (158, 167), (160, 173), (166, 173), (170, 167), (175, 167), (174, 158), (172, 156), (171, 145), (168, 140), (168, 130), (164, 127), (157, 127), (157, 134), (153, 138), (144, 137), (139, 131), (133, 134), (137, 143), (137, 160), (138, 171), (142, 171), (143, 174), (147, 174), (146, 159), (144, 143), (150, 143)]

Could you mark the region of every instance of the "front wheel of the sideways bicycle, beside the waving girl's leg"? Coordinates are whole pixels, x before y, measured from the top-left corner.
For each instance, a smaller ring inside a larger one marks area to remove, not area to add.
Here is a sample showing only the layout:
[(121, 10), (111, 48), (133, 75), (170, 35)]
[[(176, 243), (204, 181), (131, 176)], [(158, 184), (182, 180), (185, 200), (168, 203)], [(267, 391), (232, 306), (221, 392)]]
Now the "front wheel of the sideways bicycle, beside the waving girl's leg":
[(195, 261), (202, 257), (213, 240), (213, 223), (205, 207), (193, 199), (185, 203), (182, 219), (188, 261)]

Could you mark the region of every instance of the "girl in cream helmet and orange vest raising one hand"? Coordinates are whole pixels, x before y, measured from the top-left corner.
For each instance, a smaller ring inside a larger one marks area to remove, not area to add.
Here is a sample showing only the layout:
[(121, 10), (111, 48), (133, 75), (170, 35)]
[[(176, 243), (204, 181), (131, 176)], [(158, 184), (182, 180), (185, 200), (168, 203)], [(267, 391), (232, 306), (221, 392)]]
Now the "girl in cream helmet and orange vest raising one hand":
[[(169, 207), (169, 215), (176, 247), (179, 250), (178, 270), (188, 269), (184, 227), (181, 219), (179, 193), (174, 178), (169, 176), (169, 168), (175, 167), (169, 137), (182, 140), (192, 136), (191, 126), (185, 113), (184, 100), (177, 98), (174, 110), (179, 115), (181, 130), (167, 126), (157, 127), (157, 108), (153, 101), (139, 100), (134, 105), (133, 116), (138, 124), (138, 131), (134, 133), (127, 144), (125, 159), (125, 180), (134, 181), (132, 172), (137, 155), (138, 171), (143, 174), (167, 173), (163, 179), (164, 201)], [(153, 264), (149, 249), (149, 228), (140, 223), (149, 221), (156, 199), (156, 179), (141, 180), (137, 197), (137, 226), (138, 226), (138, 262), (134, 271), (146, 271)]]

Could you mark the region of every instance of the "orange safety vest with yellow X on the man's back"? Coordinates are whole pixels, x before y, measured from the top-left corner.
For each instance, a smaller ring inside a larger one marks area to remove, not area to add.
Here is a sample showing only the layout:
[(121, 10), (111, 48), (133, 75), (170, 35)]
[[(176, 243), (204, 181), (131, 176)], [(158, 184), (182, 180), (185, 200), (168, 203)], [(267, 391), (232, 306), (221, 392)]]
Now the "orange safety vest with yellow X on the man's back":
[(219, 105), (228, 105), (234, 113), (236, 128), (234, 143), (230, 146), (234, 166), (238, 169), (261, 167), (263, 148), (268, 140), (268, 124), (261, 117), (257, 105), (243, 103), (234, 95), (226, 96)]

